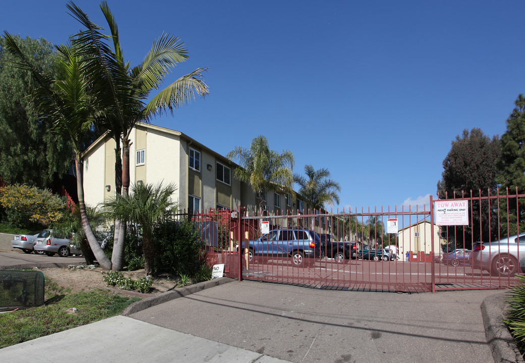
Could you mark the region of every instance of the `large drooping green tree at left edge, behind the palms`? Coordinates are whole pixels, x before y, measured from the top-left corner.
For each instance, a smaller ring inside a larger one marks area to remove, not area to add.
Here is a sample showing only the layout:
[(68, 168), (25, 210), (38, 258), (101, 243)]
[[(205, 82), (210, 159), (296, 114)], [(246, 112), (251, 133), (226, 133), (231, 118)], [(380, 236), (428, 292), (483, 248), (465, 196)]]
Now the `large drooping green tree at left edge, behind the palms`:
[[(20, 51), (43, 72), (53, 74), (57, 55), (45, 39), (14, 37)], [(67, 139), (53, 135), (38, 119), (28, 96), (31, 73), (16, 67), (17, 57), (5, 51), (0, 38), (0, 176), (8, 184), (47, 188), (67, 172), (71, 161)]]

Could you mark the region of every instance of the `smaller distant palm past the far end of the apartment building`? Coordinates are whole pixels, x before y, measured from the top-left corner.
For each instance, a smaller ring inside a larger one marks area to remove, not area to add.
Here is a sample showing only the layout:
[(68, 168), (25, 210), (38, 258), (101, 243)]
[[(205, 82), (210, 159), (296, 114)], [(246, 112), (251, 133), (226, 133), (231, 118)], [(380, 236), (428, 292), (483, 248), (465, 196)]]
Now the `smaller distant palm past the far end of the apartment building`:
[[(304, 166), (304, 174), (293, 175), (293, 180), (299, 185), (299, 194), (306, 199), (313, 210), (324, 208), (327, 204), (339, 204), (339, 194), (341, 186), (339, 183), (330, 179), (330, 172), (327, 168), (314, 170), (311, 165)], [(313, 224), (313, 217), (310, 218), (310, 225)]]

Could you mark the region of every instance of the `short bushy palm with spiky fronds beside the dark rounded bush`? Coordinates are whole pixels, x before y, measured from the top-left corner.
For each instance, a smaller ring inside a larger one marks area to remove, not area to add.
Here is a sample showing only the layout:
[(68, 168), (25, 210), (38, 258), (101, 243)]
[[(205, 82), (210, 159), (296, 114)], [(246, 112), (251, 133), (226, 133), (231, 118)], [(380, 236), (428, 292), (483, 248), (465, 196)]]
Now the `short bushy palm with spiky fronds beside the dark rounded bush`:
[(132, 186), (130, 194), (115, 194), (104, 203), (110, 218), (125, 220), (141, 227), (142, 252), (144, 253), (144, 270), (146, 274), (155, 273), (155, 243), (153, 229), (157, 223), (165, 221), (176, 208), (171, 195), (175, 186), (162, 183), (156, 187), (148, 184)]

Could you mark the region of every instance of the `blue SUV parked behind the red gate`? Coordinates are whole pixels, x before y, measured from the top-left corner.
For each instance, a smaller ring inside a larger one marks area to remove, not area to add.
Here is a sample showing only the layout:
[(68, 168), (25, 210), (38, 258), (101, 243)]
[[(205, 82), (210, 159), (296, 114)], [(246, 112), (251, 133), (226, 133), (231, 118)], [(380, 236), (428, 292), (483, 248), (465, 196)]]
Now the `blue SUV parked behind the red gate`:
[[(248, 241), (249, 261), (256, 257), (291, 258), (296, 266), (312, 264), (321, 254), (321, 240), (309, 229), (283, 228), (271, 230), (257, 240)], [(242, 247), (245, 248), (244, 242)]]

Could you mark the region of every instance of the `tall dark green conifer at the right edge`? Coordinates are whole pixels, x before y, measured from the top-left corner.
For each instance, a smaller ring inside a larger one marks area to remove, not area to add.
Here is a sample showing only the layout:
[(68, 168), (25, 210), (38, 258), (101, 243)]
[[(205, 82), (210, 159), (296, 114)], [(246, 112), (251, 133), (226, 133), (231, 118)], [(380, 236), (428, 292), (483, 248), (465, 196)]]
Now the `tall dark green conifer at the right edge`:
[[(525, 193), (525, 98), (523, 94), (518, 95), (514, 101), (516, 107), (507, 119), (507, 131), (501, 136), (501, 157), (497, 161), (499, 175), (498, 184), (501, 185), (500, 193), (509, 196)], [(507, 206), (506, 206), (507, 207)], [(520, 232), (525, 231), (525, 200), (518, 198), (509, 202), (509, 214), (507, 208), (502, 208), (505, 215), (502, 220), (503, 231), (516, 234), (518, 231), (518, 217)], [(501, 209), (501, 208), (500, 208)]]

